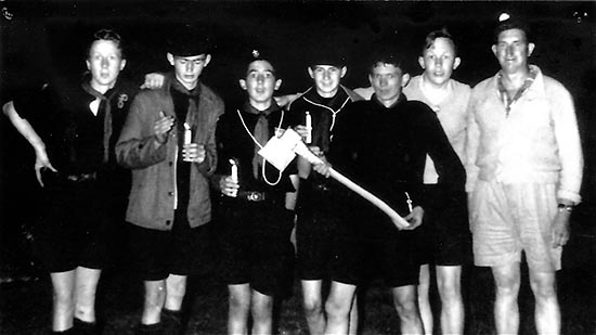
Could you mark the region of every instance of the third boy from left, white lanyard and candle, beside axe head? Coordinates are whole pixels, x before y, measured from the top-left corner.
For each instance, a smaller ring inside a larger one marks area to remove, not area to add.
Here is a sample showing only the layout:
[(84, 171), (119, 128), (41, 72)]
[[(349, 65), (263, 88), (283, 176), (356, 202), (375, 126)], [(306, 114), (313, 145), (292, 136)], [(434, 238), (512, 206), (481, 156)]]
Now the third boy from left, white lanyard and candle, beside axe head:
[(212, 180), (222, 195), (229, 334), (249, 333), (249, 312), (251, 334), (272, 334), (273, 301), (291, 286), (295, 188), (289, 175), (296, 172), (281, 172), (257, 153), (285, 121), (285, 113), (273, 100), (281, 83), (270, 60), (254, 50), (239, 79), (248, 99), (239, 108), (229, 109), (218, 124), (221, 159)]

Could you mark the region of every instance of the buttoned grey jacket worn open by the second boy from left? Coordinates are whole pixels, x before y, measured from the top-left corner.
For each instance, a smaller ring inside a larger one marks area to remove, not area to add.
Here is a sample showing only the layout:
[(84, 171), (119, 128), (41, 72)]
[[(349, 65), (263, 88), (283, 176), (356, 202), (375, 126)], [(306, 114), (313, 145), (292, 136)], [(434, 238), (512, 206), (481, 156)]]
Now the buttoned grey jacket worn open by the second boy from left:
[[(118, 163), (132, 169), (127, 221), (155, 230), (171, 230), (177, 203), (176, 166), (178, 134), (176, 127), (168, 141), (158, 146), (154, 136), (154, 123), (159, 112), (176, 117), (170, 86), (173, 76), (166, 78), (159, 90), (145, 90), (134, 99), (120, 139), (116, 145)], [(217, 166), (215, 132), (219, 116), (223, 114), (222, 100), (200, 83), (198, 113), (189, 114), (186, 120), (194, 129), (193, 143), (204, 144), (206, 158), (193, 163), (187, 218), (192, 228), (211, 220), (209, 177)]]

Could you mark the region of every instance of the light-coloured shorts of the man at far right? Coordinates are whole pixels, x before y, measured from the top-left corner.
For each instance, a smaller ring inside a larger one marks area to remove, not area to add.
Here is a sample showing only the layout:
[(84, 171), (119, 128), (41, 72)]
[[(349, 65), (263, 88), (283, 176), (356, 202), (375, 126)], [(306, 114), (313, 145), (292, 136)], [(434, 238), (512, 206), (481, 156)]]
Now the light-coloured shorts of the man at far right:
[(474, 260), (480, 267), (521, 261), (537, 272), (561, 268), (562, 247), (552, 247), (557, 214), (555, 184), (503, 184), (479, 180), (470, 199)]

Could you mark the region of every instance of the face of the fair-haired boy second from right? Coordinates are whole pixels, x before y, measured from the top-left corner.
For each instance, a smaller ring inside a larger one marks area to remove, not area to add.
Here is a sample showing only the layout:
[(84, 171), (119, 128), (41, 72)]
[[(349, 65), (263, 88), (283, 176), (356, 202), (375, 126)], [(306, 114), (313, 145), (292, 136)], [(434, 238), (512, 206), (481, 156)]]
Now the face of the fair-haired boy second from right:
[(418, 64), (424, 68), (423, 76), (435, 85), (446, 82), (462, 60), (455, 56), (452, 42), (444, 37), (436, 38), (430, 48), (418, 57)]

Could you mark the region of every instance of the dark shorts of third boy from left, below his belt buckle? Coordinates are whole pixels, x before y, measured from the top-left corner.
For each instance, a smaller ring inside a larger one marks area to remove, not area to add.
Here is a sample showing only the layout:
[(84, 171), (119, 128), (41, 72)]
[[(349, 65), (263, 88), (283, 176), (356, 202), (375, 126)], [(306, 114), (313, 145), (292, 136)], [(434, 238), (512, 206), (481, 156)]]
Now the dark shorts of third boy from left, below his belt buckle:
[(221, 270), (229, 285), (250, 284), (269, 296), (286, 296), (294, 279), (289, 240), (294, 211), (283, 202), (224, 198), (221, 205)]

